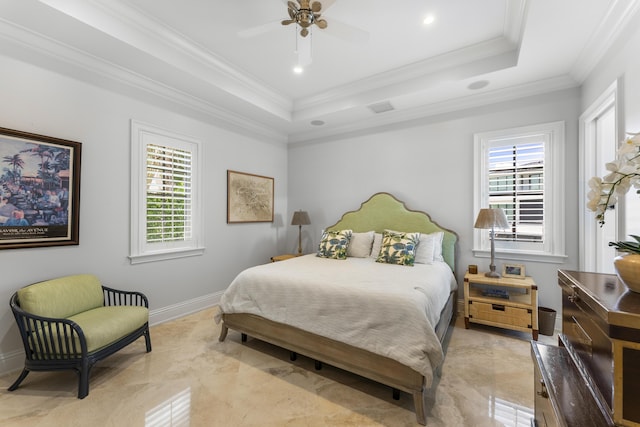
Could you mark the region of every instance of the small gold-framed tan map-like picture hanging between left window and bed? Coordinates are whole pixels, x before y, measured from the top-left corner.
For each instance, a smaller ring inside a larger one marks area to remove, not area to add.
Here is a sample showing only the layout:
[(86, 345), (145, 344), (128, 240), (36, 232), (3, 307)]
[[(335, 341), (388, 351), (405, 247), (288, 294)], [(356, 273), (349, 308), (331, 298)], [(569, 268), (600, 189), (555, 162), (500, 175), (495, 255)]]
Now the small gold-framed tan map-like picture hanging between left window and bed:
[(227, 170), (227, 224), (273, 222), (274, 179)]

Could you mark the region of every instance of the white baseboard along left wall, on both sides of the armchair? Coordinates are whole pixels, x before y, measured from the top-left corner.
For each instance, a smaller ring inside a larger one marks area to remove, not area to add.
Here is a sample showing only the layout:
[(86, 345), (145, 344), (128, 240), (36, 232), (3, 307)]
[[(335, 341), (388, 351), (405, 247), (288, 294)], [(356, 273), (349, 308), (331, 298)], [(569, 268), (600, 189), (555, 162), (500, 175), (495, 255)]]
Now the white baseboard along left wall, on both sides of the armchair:
[[(167, 307), (149, 311), (149, 325), (155, 326), (170, 320), (178, 319), (192, 313), (213, 307), (220, 302), (223, 291), (204, 295)], [(24, 367), (24, 351), (13, 350), (0, 353), (0, 375), (18, 371)]]

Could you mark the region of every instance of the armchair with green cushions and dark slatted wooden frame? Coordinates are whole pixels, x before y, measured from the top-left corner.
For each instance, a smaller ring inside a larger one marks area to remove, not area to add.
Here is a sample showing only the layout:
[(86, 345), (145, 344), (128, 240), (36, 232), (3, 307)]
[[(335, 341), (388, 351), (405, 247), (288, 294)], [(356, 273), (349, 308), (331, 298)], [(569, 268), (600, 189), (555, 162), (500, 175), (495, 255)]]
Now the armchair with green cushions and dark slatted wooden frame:
[(30, 371), (74, 370), (78, 398), (89, 394), (93, 365), (144, 336), (147, 352), (149, 302), (140, 292), (102, 286), (89, 274), (35, 283), (11, 297), (25, 351), (25, 366), (9, 391)]

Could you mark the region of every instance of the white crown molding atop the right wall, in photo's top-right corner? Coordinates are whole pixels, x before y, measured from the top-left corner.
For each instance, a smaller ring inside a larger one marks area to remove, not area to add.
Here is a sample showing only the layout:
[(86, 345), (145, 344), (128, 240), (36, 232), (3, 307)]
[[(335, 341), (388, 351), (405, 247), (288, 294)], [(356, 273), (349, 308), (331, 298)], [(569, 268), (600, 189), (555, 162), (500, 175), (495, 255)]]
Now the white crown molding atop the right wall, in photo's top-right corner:
[(571, 69), (570, 73), (576, 81), (583, 83), (586, 80), (622, 32), (630, 27), (629, 24), (639, 10), (640, 0), (613, 1)]

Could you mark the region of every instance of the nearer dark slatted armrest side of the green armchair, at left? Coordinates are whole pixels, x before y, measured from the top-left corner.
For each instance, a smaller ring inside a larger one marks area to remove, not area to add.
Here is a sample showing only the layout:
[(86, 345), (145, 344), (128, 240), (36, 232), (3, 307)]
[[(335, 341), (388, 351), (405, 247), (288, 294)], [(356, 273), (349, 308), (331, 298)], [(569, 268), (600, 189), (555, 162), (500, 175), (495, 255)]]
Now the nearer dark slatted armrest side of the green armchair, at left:
[(68, 360), (87, 353), (84, 332), (73, 320), (28, 313), (18, 305), (16, 294), (10, 306), (28, 360)]

